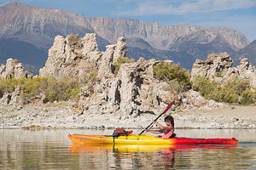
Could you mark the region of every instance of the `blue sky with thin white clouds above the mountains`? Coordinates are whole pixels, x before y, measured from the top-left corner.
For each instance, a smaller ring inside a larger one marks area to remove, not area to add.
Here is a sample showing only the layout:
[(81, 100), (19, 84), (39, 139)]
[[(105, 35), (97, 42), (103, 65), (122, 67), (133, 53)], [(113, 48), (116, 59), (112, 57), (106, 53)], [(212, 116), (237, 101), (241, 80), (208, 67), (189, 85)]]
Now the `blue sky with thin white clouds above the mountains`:
[[(0, 0), (0, 4), (9, 2)], [(256, 0), (17, 0), (85, 17), (131, 18), (160, 25), (226, 26), (256, 39)]]

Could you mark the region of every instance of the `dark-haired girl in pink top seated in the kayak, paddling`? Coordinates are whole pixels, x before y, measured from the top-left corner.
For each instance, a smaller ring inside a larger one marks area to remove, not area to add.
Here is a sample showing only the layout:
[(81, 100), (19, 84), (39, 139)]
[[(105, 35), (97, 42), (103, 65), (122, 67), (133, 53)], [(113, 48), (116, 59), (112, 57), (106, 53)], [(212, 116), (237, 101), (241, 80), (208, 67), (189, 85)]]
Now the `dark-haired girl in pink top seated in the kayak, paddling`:
[(161, 138), (162, 139), (169, 139), (169, 138), (174, 138), (176, 136), (176, 134), (174, 133), (174, 120), (172, 116), (166, 116), (165, 117), (165, 122), (167, 127), (164, 127), (163, 125), (161, 125), (159, 122), (154, 121), (154, 123), (156, 123), (156, 125), (158, 127), (160, 127), (160, 130), (148, 130), (148, 129), (144, 129), (145, 131), (149, 132), (149, 133), (164, 133)]

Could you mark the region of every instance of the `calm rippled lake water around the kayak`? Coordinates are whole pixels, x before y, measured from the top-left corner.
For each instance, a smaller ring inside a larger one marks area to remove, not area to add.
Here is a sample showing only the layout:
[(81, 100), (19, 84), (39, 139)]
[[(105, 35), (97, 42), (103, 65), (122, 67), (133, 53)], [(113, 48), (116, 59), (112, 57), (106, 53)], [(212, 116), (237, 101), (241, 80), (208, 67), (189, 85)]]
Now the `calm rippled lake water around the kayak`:
[[(256, 169), (256, 130), (176, 129), (179, 137), (239, 139), (237, 146), (76, 146), (68, 133), (113, 130), (0, 129), (0, 169)], [(134, 133), (139, 133), (135, 131)]]

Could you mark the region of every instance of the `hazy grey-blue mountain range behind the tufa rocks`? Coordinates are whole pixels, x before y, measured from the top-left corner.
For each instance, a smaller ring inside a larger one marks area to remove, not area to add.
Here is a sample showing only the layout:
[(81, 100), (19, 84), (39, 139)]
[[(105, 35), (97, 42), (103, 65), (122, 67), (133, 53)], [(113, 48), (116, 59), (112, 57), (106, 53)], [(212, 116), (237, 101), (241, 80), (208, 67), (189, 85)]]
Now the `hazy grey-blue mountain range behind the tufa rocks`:
[(130, 58), (172, 59), (191, 69), (195, 59), (227, 52), (235, 63), (246, 56), (256, 65), (256, 42), (227, 27), (161, 26), (157, 22), (107, 17), (86, 18), (58, 8), (9, 2), (0, 6), (0, 61), (15, 58), (34, 74), (43, 67), (57, 35), (95, 32), (99, 49), (125, 36)]

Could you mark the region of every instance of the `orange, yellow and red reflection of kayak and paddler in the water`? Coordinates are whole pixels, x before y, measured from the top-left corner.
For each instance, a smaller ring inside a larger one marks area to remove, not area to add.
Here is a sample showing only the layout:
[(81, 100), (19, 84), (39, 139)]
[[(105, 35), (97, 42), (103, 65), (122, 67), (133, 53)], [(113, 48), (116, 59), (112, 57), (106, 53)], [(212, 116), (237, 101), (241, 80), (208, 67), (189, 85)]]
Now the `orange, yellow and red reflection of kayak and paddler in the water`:
[[(196, 153), (199, 150), (228, 150), (234, 149), (236, 145), (185, 145), (185, 144), (140, 144), (140, 145), (125, 145), (125, 144), (73, 144), (69, 147), (68, 152), (71, 155), (79, 155), (80, 162), (83, 162), (84, 167), (92, 166), (84, 163), (88, 159), (97, 159), (98, 157), (107, 156), (108, 165), (106, 168), (122, 168), (122, 169), (138, 169), (143, 167), (159, 168), (159, 167), (174, 167), (175, 155), (178, 155), (179, 162), (187, 162), (190, 166), (193, 164), (192, 160), (188, 158), (187, 153)], [(199, 150), (196, 150), (199, 149)], [(234, 152), (233, 151), (230, 151)], [(81, 159), (83, 161), (81, 161)], [(102, 160), (98, 160), (102, 161)], [(94, 161), (94, 162), (98, 162)], [(93, 165), (93, 167), (96, 167)], [(82, 167), (83, 168), (83, 167)]]

